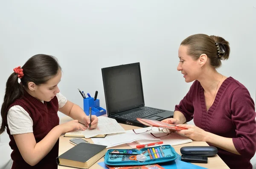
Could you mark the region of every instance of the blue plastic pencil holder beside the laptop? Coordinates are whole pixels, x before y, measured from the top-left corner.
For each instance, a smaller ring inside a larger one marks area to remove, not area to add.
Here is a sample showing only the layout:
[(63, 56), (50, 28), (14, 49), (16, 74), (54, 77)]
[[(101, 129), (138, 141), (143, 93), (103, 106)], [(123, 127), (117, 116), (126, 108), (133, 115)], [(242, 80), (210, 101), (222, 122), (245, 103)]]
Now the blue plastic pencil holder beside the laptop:
[(87, 97), (84, 99), (84, 112), (89, 115), (89, 108), (92, 108), (92, 115), (101, 116), (106, 114), (106, 109), (99, 106), (99, 99), (94, 100), (93, 97)]

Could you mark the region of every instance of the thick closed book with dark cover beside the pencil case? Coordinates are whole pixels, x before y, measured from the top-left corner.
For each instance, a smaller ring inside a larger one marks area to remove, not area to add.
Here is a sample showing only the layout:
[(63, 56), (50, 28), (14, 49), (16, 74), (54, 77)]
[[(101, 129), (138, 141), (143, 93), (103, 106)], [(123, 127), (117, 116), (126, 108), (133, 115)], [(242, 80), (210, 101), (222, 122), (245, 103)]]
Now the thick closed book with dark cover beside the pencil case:
[(88, 169), (107, 152), (107, 146), (90, 143), (79, 143), (58, 156), (56, 162), (60, 166)]

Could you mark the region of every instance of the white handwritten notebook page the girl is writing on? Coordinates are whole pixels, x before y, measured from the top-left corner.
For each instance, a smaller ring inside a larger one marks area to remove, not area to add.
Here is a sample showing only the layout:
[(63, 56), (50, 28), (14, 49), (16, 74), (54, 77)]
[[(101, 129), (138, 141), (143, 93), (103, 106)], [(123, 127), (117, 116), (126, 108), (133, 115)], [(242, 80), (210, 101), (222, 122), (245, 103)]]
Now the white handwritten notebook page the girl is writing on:
[(121, 133), (125, 132), (125, 129), (120, 126), (119, 123), (113, 118), (109, 117), (102, 117), (99, 116), (99, 122), (96, 129), (86, 129), (84, 131), (77, 130), (74, 132), (68, 132), (68, 134), (76, 135), (76, 134), (83, 134), (85, 138), (94, 137), (96, 135), (102, 135), (102, 134), (113, 134), (113, 133)]

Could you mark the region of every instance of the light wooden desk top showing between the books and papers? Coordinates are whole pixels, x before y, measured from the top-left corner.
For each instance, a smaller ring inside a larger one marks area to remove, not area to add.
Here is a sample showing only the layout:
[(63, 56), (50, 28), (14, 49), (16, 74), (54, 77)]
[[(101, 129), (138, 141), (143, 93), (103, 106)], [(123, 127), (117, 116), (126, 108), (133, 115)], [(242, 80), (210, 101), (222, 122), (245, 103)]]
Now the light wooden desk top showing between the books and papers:
[[(67, 121), (72, 120), (72, 118), (70, 117), (62, 117), (60, 123), (65, 123)], [(129, 126), (126, 124), (122, 124), (120, 123), (120, 125), (125, 129), (125, 130), (132, 130), (132, 129), (139, 129), (141, 127), (137, 127), (137, 126)], [(59, 139), (59, 155), (63, 154), (64, 152), (66, 152), (67, 150), (71, 149), (74, 145), (71, 144), (69, 142), (69, 140), (72, 137), (64, 137), (64, 135), (61, 135), (60, 139)], [(87, 141), (89, 141), (90, 143), (93, 143), (93, 141), (89, 138), (89, 139), (85, 139)], [(181, 144), (181, 145), (177, 145), (177, 146), (173, 146), (173, 148), (175, 149), (175, 151), (180, 154), (180, 148), (183, 146), (208, 146), (208, 144), (204, 141), (193, 141), (192, 143), (186, 143), (186, 144)], [(110, 148), (113, 149), (113, 148)], [(127, 144), (122, 144), (119, 146), (115, 146), (115, 149), (131, 149), (130, 146), (128, 146)], [(101, 166), (98, 165), (99, 162), (103, 162), (104, 158), (101, 158), (99, 161), (97, 161), (96, 163), (94, 163), (90, 169), (100, 169), (102, 168)], [(209, 157), (208, 158), (208, 163), (193, 163), (195, 165), (198, 166), (203, 166), (205, 168), (208, 169), (229, 169), (229, 167), (224, 163), (223, 160), (221, 160), (221, 158), (216, 155), (214, 157)], [(70, 167), (64, 167), (64, 166), (58, 166), (58, 169), (70, 169)]]

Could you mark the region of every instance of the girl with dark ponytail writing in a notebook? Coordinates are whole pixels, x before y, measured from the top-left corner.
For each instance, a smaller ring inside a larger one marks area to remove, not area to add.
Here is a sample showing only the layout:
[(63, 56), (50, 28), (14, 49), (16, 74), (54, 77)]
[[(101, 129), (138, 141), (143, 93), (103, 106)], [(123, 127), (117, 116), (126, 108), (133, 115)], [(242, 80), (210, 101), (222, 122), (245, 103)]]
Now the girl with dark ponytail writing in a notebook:
[[(0, 134), (6, 128), (11, 139), (12, 169), (57, 169), (60, 135), (89, 127), (84, 111), (59, 93), (60, 81), (61, 67), (45, 54), (31, 57), (8, 78)], [(58, 111), (76, 120), (59, 125)], [(91, 129), (97, 124), (98, 118), (92, 116)]]

